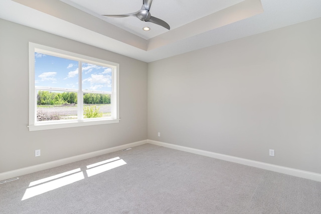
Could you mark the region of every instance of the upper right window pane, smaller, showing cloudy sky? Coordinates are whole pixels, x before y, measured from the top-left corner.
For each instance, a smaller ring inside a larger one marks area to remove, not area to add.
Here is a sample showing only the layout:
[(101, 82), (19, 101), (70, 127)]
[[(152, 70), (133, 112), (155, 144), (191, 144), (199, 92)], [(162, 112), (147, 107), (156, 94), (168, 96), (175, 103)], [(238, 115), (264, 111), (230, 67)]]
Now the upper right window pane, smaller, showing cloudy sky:
[(83, 91), (111, 92), (111, 72), (108, 67), (82, 63)]

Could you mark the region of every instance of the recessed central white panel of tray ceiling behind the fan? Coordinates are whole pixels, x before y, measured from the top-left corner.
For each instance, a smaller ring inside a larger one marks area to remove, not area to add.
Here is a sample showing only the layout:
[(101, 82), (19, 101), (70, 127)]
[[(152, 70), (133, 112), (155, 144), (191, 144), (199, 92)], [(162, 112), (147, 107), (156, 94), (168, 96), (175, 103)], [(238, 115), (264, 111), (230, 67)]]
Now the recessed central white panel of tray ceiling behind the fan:
[[(91, 14), (108, 23), (118, 26), (130, 33), (141, 38), (150, 39), (160, 34), (166, 33), (168, 30), (152, 23), (146, 23), (135, 17), (126, 18), (109, 18), (101, 16), (129, 14), (140, 10), (142, 0), (60, 0), (79, 10)], [(150, 7), (151, 16), (159, 18), (167, 22), (171, 29), (176, 29), (190, 22), (223, 10), (244, 0), (154, 0)], [(144, 32), (143, 27), (150, 27), (151, 31)]]

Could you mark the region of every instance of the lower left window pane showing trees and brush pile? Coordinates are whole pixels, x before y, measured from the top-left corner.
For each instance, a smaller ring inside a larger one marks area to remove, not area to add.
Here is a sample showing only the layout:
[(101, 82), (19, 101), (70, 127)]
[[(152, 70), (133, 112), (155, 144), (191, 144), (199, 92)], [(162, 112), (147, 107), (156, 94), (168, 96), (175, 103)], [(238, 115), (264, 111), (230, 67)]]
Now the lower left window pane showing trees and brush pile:
[(37, 91), (37, 121), (77, 119), (77, 92)]

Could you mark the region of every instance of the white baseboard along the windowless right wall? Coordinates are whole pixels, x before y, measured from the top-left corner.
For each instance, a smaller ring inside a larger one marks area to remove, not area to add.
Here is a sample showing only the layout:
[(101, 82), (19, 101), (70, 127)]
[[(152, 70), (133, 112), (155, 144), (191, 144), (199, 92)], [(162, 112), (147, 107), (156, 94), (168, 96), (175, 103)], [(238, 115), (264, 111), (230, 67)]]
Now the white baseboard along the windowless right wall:
[(210, 152), (210, 151), (205, 151), (205, 150), (200, 150), (200, 149), (195, 149), (195, 148), (190, 148), (185, 146), (179, 146), (179, 145), (170, 144), (170, 143), (159, 142), (155, 140), (147, 140), (147, 143), (321, 182), (321, 174), (314, 173), (314, 172), (273, 165), (269, 163), (234, 157), (234, 156), (225, 155), (225, 154), (219, 154), (215, 152)]

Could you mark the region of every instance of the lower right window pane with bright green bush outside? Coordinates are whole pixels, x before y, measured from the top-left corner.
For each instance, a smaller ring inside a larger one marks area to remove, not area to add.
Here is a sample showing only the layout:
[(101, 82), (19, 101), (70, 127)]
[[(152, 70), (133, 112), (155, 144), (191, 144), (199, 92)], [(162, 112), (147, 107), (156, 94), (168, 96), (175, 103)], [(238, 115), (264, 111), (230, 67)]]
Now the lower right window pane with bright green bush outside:
[(84, 93), (84, 118), (111, 117), (110, 94)]

